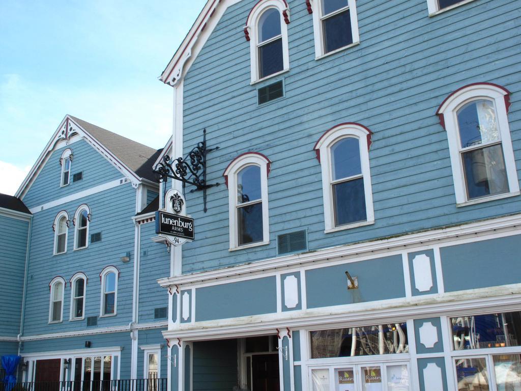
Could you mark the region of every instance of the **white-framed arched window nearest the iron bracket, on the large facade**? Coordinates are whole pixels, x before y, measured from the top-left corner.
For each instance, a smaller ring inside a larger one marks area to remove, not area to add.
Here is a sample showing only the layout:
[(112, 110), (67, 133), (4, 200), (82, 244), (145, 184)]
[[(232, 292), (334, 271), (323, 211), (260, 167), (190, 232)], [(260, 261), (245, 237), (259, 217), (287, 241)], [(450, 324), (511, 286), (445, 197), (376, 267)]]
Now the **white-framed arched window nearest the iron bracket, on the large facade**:
[(269, 243), (269, 166), (266, 156), (251, 152), (235, 158), (225, 170), (232, 250)]

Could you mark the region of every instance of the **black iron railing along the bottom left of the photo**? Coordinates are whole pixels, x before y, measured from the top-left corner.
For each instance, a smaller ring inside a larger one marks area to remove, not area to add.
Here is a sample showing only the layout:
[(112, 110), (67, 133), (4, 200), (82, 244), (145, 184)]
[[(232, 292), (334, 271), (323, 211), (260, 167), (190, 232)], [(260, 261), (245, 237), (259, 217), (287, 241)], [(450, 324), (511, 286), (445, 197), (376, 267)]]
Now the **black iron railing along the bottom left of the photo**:
[[(6, 391), (6, 385), (2, 381), (0, 391)], [(11, 391), (167, 391), (167, 384), (166, 378), (21, 382), (16, 383)]]

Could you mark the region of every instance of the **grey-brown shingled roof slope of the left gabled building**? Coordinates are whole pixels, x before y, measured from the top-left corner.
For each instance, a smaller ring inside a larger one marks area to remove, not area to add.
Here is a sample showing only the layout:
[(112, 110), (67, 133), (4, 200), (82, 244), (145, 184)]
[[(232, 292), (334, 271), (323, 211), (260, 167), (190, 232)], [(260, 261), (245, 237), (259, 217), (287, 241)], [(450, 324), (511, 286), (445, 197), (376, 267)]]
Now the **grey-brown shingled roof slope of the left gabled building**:
[(126, 137), (90, 124), (82, 119), (73, 116), (70, 117), (77, 121), (78, 125), (88, 131), (92, 137), (100, 141), (134, 173), (139, 175), (141, 178), (154, 182), (158, 181), (155, 174), (152, 172), (152, 165), (157, 156), (159, 156), (159, 153), (161, 153), (161, 150), (155, 150), (154, 148), (150, 148), (150, 146), (127, 139)]

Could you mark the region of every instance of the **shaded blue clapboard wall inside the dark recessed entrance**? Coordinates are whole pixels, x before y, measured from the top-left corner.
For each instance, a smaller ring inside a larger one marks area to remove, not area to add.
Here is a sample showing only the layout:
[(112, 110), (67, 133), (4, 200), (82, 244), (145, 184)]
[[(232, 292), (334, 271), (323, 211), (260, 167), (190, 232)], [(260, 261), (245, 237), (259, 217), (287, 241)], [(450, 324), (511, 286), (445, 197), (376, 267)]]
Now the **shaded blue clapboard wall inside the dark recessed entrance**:
[(193, 391), (229, 391), (237, 383), (237, 339), (194, 342)]

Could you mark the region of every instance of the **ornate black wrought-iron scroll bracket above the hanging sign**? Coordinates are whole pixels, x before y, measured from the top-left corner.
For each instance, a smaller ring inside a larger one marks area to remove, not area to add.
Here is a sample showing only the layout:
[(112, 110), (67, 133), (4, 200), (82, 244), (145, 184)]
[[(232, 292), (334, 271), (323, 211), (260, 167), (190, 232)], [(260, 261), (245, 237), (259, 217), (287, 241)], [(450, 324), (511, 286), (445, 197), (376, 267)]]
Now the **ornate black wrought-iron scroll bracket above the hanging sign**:
[(216, 151), (219, 147), (206, 148), (206, 129), (203, 130), (203, 141), (198, 142), (186, 157), (173, 159), (165, 155), (163, 161), (159, 162), (154, 168), (154, 173), (159, 175), (160, 182), (167, 182), (168, 178), (179, 180), (185, 185), (193, 185), (193, 191), (203, 191), (204, 212), (206, 213), (206, 189), (219, 186), (219, 183), (206, 183), (206, 154)]

